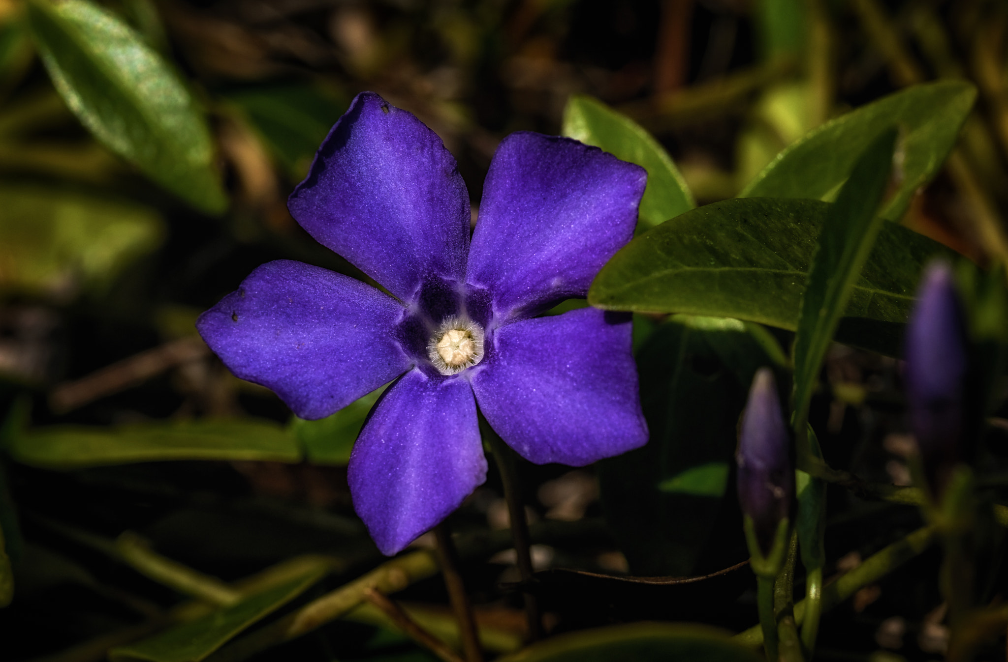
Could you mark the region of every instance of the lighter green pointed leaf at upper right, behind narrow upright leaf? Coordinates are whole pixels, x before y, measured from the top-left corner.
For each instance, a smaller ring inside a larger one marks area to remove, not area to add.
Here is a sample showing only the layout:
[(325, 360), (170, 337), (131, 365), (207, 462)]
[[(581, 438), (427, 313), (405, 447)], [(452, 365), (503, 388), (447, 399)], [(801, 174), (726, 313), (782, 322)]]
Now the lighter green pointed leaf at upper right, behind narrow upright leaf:
[(827, 199), (879, 132), (896, 125), (900, 130), (899, 188), (881, 213), (899, 220), (917, 189), (941, 167), (976, 96), (969, 82), (943, 80), (913, 86), (859, 108), (778, 154), (739, 197)]

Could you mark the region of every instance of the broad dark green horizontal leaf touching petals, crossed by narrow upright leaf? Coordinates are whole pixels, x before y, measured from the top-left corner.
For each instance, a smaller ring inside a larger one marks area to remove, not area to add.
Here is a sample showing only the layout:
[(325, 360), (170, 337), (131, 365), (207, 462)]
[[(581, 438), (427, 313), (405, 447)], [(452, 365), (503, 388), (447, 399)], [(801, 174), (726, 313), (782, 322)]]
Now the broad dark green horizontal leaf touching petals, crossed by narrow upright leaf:
[[(816, 200), (722, 200), (634, 238), (603, 267), (593, 306), (731, 317), (797, 327), (815, 239), (830, 205)], [(897, 355), (928, 259), (953, 253), (885, 223), (854, 285), (837, 339)]]

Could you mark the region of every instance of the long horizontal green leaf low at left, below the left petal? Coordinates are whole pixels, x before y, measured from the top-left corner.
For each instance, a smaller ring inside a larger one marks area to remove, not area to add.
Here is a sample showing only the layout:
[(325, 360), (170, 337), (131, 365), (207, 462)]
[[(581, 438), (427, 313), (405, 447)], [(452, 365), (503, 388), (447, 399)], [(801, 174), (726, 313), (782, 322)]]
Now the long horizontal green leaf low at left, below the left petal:
[(202, 420), (118, 428), (50, 426), (11, 434), (7, 451), (22, 464), (75, 469), (162, 460), (298, 462), (293, 437), (269, 421)]

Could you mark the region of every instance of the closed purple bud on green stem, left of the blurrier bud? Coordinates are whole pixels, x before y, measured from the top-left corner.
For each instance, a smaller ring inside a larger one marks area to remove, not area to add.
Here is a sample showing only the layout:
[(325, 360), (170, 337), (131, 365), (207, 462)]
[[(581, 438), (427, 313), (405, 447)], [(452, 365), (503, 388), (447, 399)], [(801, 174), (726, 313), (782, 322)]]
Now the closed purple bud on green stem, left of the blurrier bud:
[(794, 501), (790, 444), (773, 372), (760, 368), (749, 389), (735, 461), (739, 466), (739, 503), (753, 520), (764, 555), (769, 555), (777, 526), (790, 516)]

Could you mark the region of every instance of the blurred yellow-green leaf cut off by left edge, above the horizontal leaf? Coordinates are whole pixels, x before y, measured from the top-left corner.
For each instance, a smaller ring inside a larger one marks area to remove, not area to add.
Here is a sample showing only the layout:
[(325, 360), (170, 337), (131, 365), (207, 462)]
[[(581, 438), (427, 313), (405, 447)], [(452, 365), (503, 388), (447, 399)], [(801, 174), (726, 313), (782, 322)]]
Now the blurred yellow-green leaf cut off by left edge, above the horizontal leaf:
[(151, 209), (60, 189), (0, 187), (0, 292), (101, 290), (164, 235)]

